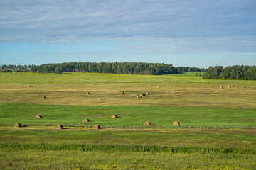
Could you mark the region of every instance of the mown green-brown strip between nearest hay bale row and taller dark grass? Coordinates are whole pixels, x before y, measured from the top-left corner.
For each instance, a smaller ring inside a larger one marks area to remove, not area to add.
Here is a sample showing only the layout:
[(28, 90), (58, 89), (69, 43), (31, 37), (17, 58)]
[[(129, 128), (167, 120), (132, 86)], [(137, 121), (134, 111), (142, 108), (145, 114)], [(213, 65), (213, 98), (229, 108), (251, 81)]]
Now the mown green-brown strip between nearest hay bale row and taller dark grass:
[[(256, 149), (255, 129), (1, 127), (0, 142)], [(256, 154), (256, 153), (255, 153)]]

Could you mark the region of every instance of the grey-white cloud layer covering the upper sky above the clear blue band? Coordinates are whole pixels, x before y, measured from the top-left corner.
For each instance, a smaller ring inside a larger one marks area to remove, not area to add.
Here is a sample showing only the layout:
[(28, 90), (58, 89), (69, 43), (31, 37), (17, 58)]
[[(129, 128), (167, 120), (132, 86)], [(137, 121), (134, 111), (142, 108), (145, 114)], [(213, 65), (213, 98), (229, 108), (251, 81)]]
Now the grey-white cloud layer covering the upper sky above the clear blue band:
[(0, 42), (255, 35), (255, 1), (0, 1)]

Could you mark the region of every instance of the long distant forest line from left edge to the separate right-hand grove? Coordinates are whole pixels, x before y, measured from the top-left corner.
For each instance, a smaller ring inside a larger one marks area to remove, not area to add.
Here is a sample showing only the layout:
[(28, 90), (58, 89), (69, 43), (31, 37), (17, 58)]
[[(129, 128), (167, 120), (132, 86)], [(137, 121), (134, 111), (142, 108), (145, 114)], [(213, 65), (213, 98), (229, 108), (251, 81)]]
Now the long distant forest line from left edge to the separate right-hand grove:
[(3, 64), (0, 72), (33, 72), (57, 73), (62, 72), (95, 72), (117, 74), (176, 74), (178, 72), (206, 72), (197, 67), (173, 67), (172, 64), (144, 63), (144, 62), (66, 62), (62, 64), (14, 65)]

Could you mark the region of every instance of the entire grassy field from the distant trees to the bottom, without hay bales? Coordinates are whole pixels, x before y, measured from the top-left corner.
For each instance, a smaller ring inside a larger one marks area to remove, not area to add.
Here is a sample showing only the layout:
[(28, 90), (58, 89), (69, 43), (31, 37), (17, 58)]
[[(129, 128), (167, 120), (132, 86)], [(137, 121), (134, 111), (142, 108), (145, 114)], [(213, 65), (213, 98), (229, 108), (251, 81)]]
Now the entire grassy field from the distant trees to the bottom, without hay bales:
[(255, 169), (256, 81), (195, 74), (0, 73), (0, 169)]

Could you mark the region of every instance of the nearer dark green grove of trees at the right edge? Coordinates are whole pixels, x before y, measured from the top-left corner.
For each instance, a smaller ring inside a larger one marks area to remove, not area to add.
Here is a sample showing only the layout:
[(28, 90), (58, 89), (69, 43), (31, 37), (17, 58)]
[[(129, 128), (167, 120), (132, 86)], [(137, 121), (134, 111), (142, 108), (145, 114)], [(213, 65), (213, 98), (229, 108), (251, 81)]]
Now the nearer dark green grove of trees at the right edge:
[(256, 66), (209, 67), (203, 79), (240, 79), (256, 80)]

